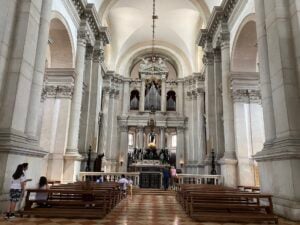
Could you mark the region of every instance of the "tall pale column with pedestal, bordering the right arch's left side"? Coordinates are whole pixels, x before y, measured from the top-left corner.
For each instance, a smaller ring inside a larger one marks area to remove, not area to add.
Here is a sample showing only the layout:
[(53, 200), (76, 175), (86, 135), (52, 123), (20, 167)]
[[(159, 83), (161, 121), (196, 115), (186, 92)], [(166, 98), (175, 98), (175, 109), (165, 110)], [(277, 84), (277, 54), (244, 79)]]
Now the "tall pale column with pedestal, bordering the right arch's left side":
[(224, 157), (220, 159), (221, 174), (224, 176), (226, 186), (237, 185), (236, 153), (235, 153), (235, 131), (233, 99), (230, 89), (230, 34), (227, 24), (222, 23), (221, 30), (221, 59), (222, 59), (222, 97), (224, 118)]

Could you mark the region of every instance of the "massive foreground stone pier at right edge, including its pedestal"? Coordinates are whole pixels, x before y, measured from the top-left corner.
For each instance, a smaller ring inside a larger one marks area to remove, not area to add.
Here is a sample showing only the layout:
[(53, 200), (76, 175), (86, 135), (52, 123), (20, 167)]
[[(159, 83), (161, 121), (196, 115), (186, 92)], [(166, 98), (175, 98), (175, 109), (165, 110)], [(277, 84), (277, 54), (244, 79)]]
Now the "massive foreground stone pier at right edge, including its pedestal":
[(273, 195), (275, 212), (299, 220), (299, 65), (293, 40), (295, 21), (291, 21), (289, 5), (292, 2), (264, 1), (276, 139), (271, 145), (265, 144), (255, 160), (259, 165), (261, 191)]

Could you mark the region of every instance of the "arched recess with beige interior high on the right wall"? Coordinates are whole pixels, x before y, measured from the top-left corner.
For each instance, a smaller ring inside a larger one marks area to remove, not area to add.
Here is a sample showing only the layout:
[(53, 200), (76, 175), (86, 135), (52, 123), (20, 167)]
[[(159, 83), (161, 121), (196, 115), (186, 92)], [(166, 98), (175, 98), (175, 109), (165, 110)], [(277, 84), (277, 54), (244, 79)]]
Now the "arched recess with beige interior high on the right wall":
[(257, 36), (254, 14), (244, 18), (235, 35), (231, 68), (232, 71), (257, 71)]

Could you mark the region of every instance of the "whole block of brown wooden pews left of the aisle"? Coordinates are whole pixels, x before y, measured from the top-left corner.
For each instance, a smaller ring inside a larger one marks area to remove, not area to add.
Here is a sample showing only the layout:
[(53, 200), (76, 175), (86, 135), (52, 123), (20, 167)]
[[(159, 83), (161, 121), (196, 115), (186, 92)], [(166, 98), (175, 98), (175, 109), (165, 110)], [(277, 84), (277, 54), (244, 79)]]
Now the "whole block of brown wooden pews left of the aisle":
[[(45, 199), (37, 196), (46, 195)], [(124, 197), (115, 182), (77, 182), (49, 190), (27, 189), (22, 215), (63, 218), (103, 218)]]

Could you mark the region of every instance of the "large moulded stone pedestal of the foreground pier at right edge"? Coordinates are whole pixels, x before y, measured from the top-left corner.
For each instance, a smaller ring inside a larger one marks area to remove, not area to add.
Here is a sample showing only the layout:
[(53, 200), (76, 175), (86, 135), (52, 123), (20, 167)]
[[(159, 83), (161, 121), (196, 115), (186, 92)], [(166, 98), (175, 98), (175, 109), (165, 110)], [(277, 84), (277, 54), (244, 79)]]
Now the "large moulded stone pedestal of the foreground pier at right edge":
[(273, 195), (274, 212), (300, 221), (300, 140), (275, 140), (254, 159), (259, 166), (261, 192)]

